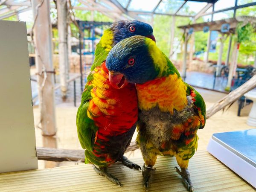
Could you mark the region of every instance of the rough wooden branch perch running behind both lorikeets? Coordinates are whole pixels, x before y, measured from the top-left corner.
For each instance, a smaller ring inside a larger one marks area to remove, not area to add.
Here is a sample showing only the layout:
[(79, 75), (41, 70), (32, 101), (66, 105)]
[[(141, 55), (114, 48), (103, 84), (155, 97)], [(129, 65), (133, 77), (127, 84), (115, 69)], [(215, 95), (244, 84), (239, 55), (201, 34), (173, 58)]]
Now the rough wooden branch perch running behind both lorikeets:
[[(236, 90), (230, 92), (227, 96), (216, 102), (206, 111), (206, 118), (214, 115), (227, 105), (235, 102), (241, 96), (248, 91), (256, 87), (256, 75), (253, 76), (246, 83), (238, 87)], [(130, 146), (125, 152), (134, 151), (138, 149), (138, 145), (135, 142), (131, 142)], [(37, 148), (38, 160), (49, 160), (49, 161), (76, 161), (84, 162), (84, 150), (67, 150), (57, 148)]]

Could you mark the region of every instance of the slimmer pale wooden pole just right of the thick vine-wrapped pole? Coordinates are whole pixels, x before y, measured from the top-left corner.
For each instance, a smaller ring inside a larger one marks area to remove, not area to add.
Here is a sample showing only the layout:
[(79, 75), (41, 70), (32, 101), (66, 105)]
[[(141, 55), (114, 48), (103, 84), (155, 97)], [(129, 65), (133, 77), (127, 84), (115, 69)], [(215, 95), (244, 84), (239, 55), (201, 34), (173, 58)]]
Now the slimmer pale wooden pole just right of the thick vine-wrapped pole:
[(67, 98), (67, 0), (57, 0), (58, 37), (59, 37), (59, 69), (62, 99)]

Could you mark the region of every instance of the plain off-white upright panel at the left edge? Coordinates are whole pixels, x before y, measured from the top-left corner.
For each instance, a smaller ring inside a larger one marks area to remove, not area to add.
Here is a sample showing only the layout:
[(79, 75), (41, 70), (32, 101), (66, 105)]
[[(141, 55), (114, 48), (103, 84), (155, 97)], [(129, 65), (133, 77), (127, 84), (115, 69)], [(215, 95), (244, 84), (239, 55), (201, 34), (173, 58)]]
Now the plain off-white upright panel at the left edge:
[(26, 23), (0, 20), (0, 172), (37, 169)]

